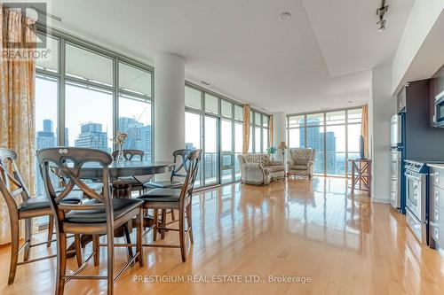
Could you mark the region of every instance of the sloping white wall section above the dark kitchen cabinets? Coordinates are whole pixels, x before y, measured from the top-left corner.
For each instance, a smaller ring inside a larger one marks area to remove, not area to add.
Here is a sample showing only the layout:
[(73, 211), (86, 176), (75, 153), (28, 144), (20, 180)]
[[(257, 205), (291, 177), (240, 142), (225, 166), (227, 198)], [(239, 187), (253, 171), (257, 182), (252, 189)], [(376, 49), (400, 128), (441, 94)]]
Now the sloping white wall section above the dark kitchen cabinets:
[[(444, 9), (444, 0), (416, 0), (392, 63), (392, 93), (405, 84), (404, 76)], [(389, 20), (390, 21), (390, 20)], [(444, 33), (442, 33), (444, 34)], [(441, 35), (442, 36), (442, 35)], [(442, 50), (442, 49), (436, 49)]]

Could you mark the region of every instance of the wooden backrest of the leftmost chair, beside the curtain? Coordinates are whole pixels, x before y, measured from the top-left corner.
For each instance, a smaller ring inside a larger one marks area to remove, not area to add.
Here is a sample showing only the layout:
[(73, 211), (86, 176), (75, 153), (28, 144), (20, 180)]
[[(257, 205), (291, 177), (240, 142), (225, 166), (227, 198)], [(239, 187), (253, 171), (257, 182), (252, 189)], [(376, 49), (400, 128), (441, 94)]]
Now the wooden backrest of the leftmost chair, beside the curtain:
[(30, 198), (29, 190), (15, 163), (16, 159), (17, 154), (14, 151), (0, 148), (0, 192), (4, 197), (10, 216), (18, 213), (16, 196), (20, 195), (20, 202)]

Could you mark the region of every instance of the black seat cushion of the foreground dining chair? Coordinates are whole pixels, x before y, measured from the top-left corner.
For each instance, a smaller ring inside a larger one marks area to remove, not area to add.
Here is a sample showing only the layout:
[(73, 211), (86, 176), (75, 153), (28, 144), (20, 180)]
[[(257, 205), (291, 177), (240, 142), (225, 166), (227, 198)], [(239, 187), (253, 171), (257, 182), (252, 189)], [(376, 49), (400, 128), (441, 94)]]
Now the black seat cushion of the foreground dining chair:
[[(86, 204), (98, 203), (97, 200), (91, 200)], [(131, 210), (141, 206), (143, 201), (134, 198), (113, 198), (114, 219), (122, 217)], [(95, 210), (72, 210), (66, 215), (67, 222), (72, 223), (103, 223), (107, 222), (105, 207)]]

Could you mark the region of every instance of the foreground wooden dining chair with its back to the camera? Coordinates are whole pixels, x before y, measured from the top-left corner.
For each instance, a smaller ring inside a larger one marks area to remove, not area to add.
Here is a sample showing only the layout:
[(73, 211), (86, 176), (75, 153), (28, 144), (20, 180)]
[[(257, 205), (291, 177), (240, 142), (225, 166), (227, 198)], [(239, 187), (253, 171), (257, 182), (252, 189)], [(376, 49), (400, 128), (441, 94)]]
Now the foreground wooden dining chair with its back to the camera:
[[(142, 251), (142, 204), (138, 199), (112, 198), (109, 183), (109, 165), (113, 162), (111, 156), (105, 151), (86, 148), (57, 147), (44, 149), (37, 152), (37, 159), (41, 166), (44, 179), (44, 188), (50, 198), (50, 206), (55, 216), (55, 228), (57, 234), (57, 295), (63, 294), (65, 283), (71, 279), (99, 279), (107, 280), (107, 294), (114, 293), (114, 283), (122, 276), (123, 271), (129, 268), (135, 260), (143, 267)], [(84, 166), (91, 162), (99, 163), (102, 167), (103, 190), (99, 194), (91, 190), (80, 178)], [(50, 170), (52, 166), (59, 168), (67, 178), (67, 186), (59, 194), (54, 189)], [(70, 205), (63, 203), (63, 199), (77, 186), (91, 200), (82, 204)], [(114, 232), (127, 222), (135, 218), (137, 228), (136, 253), (114, 275), (114, 247), (132, 247), (131, 244), (115, 244)], [(93, 252), (83, 265), (73, 275), (66, 274), (67, 266), (67, 234), (91, 235), (93, 240)], [(107, 244), (99, 244), (99, 236), (107, 235)], [(94, 265), (99, 265), (99, 247), (107, 247), (107, 276), (82, 276), (80, 273), (86, 268), (87, 263), (94, 258)]]

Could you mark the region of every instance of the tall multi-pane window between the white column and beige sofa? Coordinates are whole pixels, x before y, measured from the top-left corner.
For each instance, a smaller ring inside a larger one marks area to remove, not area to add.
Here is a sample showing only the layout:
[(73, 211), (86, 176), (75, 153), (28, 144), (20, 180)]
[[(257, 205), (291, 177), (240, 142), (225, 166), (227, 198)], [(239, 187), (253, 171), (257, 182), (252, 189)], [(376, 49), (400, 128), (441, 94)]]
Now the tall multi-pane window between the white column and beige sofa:
[[(185, 105), (185, 146), (203, 150), (199, 185), (239, 181), (241, 169), (237, 155), (242, 153), (243, 106), (189, 83), (185, 86)], [(261, 113), (258, 118), (260, 139), (262, 134), (268, 135), (268, 116), (264, 114), (265, 127)], [(260, 152), (262, 141), (258, 143)]]

